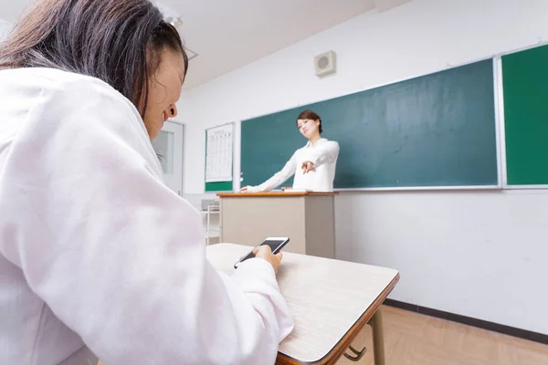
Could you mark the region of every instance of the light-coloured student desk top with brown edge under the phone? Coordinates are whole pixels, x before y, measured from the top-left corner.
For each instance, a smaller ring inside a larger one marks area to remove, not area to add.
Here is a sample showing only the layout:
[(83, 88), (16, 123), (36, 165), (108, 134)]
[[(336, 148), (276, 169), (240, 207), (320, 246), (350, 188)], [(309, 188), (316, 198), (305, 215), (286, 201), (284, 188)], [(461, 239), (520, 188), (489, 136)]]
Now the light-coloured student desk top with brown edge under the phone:
[[(209, 245), (207, 258), (217, 270), (230, 274), (248, 251), (247, 245)], [(278, 281), (295, 328), (279, 344), (277, 363), (334, 363), (398, 279), (398, 272), (390, 268), (284, 253)]]

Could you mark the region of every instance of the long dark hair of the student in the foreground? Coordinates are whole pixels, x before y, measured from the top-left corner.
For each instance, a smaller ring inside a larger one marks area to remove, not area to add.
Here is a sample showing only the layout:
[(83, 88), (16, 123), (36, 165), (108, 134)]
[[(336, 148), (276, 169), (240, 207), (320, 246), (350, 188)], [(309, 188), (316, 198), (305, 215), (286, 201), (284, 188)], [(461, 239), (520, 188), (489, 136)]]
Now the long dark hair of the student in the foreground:
[(149, 0), (42, 0), (0, 46), (2, 68), (58, 68), (100, 78), (140, 111), (163, 47), (188, 57)]

